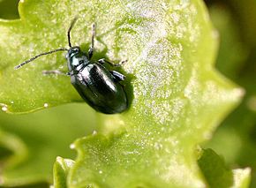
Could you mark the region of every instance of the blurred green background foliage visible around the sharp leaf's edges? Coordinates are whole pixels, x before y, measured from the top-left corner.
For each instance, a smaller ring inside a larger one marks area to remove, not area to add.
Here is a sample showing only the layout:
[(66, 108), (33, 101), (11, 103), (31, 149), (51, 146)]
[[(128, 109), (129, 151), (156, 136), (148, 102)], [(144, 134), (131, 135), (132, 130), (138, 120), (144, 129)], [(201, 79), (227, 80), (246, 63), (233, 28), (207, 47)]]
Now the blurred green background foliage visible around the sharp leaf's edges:
[[(251, 167), (251, 187), (256, 187), (256, 1), (205, 2), (220, 35), (216, 67), (244, 87), (246, 94), (213, 139), (202, 147), (222, 155), (232, 169)], [(19, 19), (18, 3), (18, 0), (0, 0), (0, 18)], [(75, 157), (69, 146), (74, 139), (94, 131), (92, 117), (94, 114), (84, 104), (21, 116), (0, 112), (0, 172), (6, 177), (4, 181), (17, 186), (19, 182), (30, 184), (22, 187), (49, 187), (47, 182), (52, 178), (56, 156)], [(57, 138), (49, 140), (54, 134)]]

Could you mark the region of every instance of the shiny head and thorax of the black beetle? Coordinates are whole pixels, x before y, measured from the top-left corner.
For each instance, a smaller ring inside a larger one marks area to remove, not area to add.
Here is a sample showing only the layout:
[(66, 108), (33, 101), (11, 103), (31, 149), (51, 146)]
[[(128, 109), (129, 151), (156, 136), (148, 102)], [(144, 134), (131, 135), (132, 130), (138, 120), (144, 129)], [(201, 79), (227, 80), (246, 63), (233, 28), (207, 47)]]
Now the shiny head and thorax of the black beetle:
[(89, 64), (85, 53), (79, 47), (72, 47), (66, 55), (69, 71), (79, 71), (78, 68), (84, 64)]

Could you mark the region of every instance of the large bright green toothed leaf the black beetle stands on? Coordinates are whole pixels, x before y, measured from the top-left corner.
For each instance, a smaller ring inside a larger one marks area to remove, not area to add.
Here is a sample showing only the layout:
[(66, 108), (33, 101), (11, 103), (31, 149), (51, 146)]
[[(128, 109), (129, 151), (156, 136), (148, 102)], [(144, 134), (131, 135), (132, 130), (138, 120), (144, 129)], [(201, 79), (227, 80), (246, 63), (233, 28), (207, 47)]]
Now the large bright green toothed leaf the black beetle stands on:
[[(41, 52), (72, 44), (87, 50), (96, 23), (94, 59), (128, 59), (123, 72), (130, 109), (97, 115), (98, 132), (78, 139), (69, 187), (204, 187), (196, 146), (211, 137), (243, 90), (213, 68), (217, 35), (204, 4), (192, 1), (32, 1), (19, 4), (20, 20), (0, 22), (0, 103), (7, 112), (81, 101), (64, 55)], [(8, 49), (8, 50), (6, 50)], [(15, 53), (14, 53), (15, 52)]]

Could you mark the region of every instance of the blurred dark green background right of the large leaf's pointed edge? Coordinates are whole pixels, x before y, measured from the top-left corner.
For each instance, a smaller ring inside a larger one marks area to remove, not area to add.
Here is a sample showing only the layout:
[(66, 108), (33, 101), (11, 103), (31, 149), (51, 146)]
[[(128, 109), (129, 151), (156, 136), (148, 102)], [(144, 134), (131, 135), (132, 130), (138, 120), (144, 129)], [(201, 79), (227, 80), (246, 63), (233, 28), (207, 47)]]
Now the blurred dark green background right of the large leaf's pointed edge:
[(222, 155), (232, 168), (252, 168), (256, 187), (256, 1), (206, 1), (220, 34), (216, 67), (245, 88), (245, 98), (204, 147)]

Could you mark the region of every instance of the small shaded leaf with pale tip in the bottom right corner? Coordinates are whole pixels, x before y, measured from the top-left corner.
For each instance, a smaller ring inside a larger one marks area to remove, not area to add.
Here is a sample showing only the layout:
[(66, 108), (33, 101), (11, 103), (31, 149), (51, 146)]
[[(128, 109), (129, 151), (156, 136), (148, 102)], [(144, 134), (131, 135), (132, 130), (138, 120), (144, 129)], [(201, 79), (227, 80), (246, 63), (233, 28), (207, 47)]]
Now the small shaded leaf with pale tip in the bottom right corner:
[(210, 187), (248, 187), (250, 169), (231, 170), (224, 160), (212, 149), (204, 149), (199, 160), (199, 166)]

